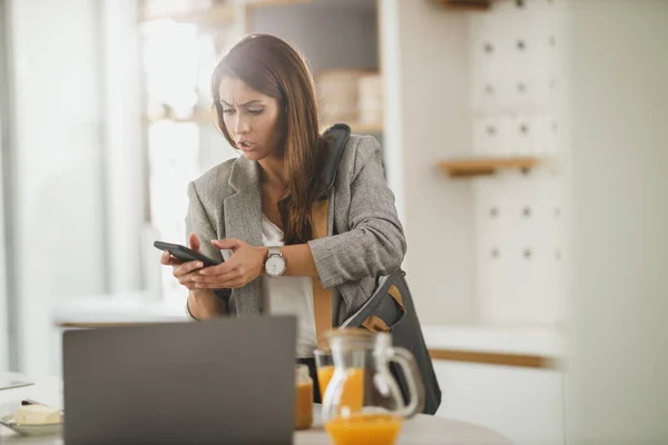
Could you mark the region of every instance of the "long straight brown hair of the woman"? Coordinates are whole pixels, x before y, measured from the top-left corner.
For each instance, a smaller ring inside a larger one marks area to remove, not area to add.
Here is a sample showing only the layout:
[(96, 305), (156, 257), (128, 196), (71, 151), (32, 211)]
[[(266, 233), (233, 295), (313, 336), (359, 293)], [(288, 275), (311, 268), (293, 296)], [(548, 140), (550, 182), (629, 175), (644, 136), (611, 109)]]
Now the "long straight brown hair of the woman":
[(317, 102), (311, 70), (287, 42), (269, 34), (244, 37), (218, 62), (212, 79), (214, 120), (234, 147), (223, 120), (220, 82), (237, 78), (250, 88), (278, 99), (281, 141), (284, 146), (287, 189), (278, 200), (285, 244), (312, 239), (313, 204), (323, 190), (322, 166), (327, 141), (318, 131)]

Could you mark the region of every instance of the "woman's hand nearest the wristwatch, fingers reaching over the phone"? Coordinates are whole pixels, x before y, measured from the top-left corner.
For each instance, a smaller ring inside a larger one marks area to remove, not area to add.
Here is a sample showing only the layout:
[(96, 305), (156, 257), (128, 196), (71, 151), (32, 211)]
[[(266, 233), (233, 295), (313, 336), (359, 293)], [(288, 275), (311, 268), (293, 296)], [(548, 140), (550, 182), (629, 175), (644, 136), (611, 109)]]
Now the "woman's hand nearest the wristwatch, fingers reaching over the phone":
[(202, 289), (236, 289), (246, 286), (262, 274), (266, 247), (250, 246), (240, 239), (212, 240), (218, 249), (230, 249), (232, 258), (217, 266), (199, 269), (193, 277)]

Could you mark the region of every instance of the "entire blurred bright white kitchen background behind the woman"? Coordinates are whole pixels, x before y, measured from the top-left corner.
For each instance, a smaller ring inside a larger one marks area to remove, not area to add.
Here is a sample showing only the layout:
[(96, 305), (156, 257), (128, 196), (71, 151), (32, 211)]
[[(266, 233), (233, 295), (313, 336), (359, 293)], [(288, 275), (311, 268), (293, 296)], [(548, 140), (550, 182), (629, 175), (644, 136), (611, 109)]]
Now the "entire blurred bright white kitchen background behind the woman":
[(305, 55), (323, 129), (383, 146), (438, 415), (668, 443), (665, 0), (0, 0), (0, 370), (185, 319), (153, 241), (237, 156), (209, 77), (249, 32)]

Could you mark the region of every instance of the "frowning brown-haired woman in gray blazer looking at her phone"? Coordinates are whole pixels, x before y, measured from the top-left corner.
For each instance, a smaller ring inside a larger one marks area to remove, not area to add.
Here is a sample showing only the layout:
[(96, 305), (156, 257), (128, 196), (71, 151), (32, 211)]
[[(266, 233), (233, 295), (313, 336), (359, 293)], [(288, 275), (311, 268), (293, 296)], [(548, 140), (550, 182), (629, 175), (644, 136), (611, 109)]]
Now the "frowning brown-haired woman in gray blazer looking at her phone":
[[(195, 319), (296, 315), (297, 355), (313, 366), (318, 314), (340, 325), (405, 254), (381, 148), (346, 126), (318, 134), (311, 72), (273, 36), (239, 41), (215, 68), (212, 95), (216, 125), (243, 156), (189, 185), (186, 226), (190, 248), (225, 261), (200, 268), (165, 253), (161, 263), (189, 289)], [(330, 307), (318, 308), (323, 295)]]

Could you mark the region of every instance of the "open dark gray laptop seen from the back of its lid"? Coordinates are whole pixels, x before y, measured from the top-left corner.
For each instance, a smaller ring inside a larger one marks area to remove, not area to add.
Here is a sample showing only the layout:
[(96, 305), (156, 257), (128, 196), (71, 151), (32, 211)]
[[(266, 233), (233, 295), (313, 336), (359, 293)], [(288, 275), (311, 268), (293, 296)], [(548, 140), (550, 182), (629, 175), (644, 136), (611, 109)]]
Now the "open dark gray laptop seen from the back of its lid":
[(68, 330), (65, 442), (292, 444), (294, 316)]

